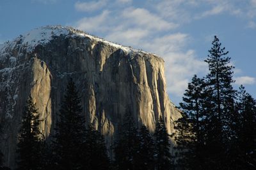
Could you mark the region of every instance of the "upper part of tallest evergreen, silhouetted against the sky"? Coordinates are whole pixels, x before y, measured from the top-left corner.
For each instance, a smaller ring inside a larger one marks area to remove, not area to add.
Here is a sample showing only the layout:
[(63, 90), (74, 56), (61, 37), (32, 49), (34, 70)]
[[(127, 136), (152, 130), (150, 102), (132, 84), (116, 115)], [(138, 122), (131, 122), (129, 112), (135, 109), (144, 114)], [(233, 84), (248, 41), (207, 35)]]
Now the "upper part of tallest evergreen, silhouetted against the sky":
[[(232, 69), (234, 66), (230, 65), (230, 57), (226, 57), (228, 51), (225, 52), (225, 47), (221, 47), (220, 40), (214, 36), (212, 47), (209, 50), (208, 58), (205, 62), (208, 63), (210, 73), (207, 75), (208, 86), (213, 91), (214, 102), (216, 103), (216, 116), (221, 122), (225, 118), (225, 108), (230, 99), (234, 99), (236, 91), (232, 87)], [(222, 124), (221, 124), (222, 125)]]

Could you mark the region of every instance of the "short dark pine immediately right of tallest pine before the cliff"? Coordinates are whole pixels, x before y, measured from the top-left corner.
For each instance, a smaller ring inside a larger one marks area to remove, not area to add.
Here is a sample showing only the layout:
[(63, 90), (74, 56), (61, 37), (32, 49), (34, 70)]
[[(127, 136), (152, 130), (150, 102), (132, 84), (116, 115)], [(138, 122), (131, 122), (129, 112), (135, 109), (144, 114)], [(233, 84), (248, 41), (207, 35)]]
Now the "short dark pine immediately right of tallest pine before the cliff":
[(110, 162), (105, 144), (105, 139), (98, 130), (93, 130), (92, 125), (86, 130), (86, 139), (83, 143), (83, 150), (86, 151), (82, 155), (84, 162), (82, 169), (108, 170)]

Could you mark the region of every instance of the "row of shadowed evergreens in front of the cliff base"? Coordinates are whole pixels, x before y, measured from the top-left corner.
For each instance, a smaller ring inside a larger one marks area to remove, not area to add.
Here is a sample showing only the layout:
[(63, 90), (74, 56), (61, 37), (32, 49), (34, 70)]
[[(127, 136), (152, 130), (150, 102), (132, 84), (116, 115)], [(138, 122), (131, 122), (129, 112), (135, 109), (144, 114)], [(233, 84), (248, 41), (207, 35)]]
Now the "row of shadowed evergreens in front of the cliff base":
[(92, 125), (86, 127), (81, 99), (72, 80), (68, 82), (56, 133), (50, 142), (40, 132), (40, 118), (28, 98), (23, 111), (17, 144), (17, 169), (170, 169), (170, 139), (163, 118), (156, 132), (150, 134), (145, 126), (135, 127), (130, 113), (124, 115), (122, 130), (113, 143), (115, 158), (108, 157), (105, 139)]

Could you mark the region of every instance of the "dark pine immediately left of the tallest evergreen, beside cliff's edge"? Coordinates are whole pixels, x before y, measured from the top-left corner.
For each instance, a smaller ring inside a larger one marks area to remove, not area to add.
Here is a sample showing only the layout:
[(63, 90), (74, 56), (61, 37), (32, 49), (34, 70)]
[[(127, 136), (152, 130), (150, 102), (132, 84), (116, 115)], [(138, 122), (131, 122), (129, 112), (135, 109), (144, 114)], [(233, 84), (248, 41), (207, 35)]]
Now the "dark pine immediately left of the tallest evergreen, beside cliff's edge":
[(196, 75), (180, 103), (182, 118), (175, 121), (177, 166), (179, 169), (204, 169), (204, 113), (208, 103), (204, 79)]

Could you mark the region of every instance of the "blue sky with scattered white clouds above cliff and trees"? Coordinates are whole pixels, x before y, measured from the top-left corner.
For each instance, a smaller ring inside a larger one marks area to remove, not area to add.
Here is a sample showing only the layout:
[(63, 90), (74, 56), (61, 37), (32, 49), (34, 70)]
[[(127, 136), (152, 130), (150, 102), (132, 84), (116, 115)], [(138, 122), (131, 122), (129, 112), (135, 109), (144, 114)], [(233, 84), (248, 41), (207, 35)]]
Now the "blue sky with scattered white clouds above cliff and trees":
[(0, 0), (0, 43), (46, 25), (72, 26), (164, 58), (168, 94), (179, 104), (205, 75), (213, 36), (229, 51), (237, 88), (256, 97), (256, 0)]

